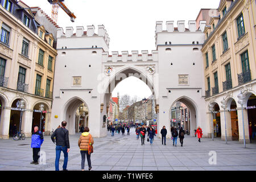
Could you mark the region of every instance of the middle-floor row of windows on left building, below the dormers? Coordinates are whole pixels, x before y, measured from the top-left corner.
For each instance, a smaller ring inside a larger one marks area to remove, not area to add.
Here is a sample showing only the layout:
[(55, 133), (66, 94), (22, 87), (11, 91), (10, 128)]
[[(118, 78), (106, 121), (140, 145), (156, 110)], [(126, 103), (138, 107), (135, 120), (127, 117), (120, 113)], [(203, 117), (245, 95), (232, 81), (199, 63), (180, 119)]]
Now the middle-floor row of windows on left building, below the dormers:
[[(3, 44), (6, 44), (8, 46), (9, 44), (9, 37), (10, 37), (10, 28), (7, 27), (4, 23), (2, 23), (1, 27), (1, 35), (0, 35), (0, 41)], [(51, 39), (49, 39), (51, 40)], [(23, 38), (22, 41), (22, 55), (28, 57), (28, 46), (30, 42)], [(43, 59), (44, 59), (44, 51), (42, 49), (39, 49), (39, 55), (38, 55), (38, 64), (43, 66)], [(48, 58), (48, 70), (52, 71), (52, 57), (49, 56)]]

